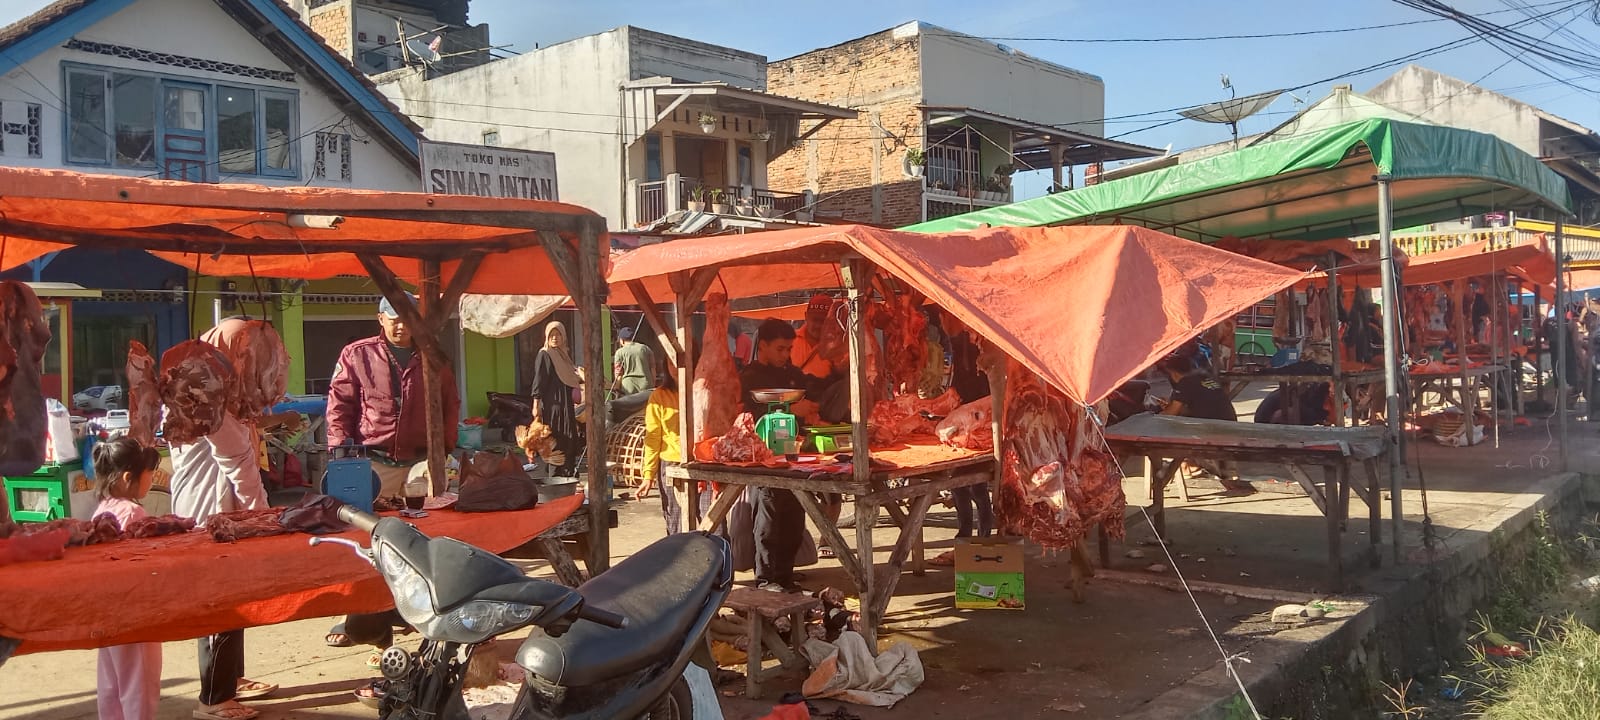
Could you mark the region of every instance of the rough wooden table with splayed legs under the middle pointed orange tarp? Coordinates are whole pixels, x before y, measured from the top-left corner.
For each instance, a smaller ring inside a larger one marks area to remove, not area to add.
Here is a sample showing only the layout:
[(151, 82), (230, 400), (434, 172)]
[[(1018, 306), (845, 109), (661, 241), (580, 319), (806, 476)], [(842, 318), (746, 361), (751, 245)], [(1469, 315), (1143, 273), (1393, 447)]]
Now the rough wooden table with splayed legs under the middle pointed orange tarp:
[[(955, 450), (926, 443), (898, 448), (872, 450), (874, 472), (867, 483), (853, 478), (850, 464), (790, 466), (790, 467), (736, 467), (712, 462), (688, 462), (667, 469), (674, 480), (714, 482), (734, 485), (725, 488), (701, 522), (701, 530), (714, 530), (728, 517), (739, 499), (741, 488), (787, 490), (800, 501), (811, 522), (822, 531), (829, 547), (838, 558), (845, 574), (861, 597), (861, 627), (867, 646), (877, 646), (877, 627), (883, 621), (894, 587), (912, 562), (912, 573), (923, 573), (922, 526), (928, 518), (941, 490), (965, 488), (978, 483), (994, 483), (997, 475), (992, 453)], [(882, 469), (877, 466), (883, 464)], [(851, 549), (838, 525), (827, 518), (814, 493), (845, 493), (856, 498), (856, 544)], [(909, 507), (901, 507), (909, 502)], [(874, 563), (872, 531), (878, 520), (878, 507), (888, 510), (899, 536), (890, 554), (888, 566), (880, 573)]]

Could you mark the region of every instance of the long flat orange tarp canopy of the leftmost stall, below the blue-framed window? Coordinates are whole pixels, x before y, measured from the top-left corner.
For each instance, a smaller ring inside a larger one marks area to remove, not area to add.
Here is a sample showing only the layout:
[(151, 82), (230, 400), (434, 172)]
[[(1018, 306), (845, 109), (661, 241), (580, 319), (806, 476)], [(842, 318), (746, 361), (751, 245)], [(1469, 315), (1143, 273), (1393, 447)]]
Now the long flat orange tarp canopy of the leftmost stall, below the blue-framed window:
[[(301, 216), (342, 222), (291, 227)], [(538, 230), (557, 232), (570, 245), (587, 230), (602, 248), (606, 243), (600, 216), (539, 200), (0, 168), (0, 270), (70, 246), (99, 246), (147, 250), (203, 275), (318, 280), (368, 275), (354, 253), (370, 251), (416, 285), (422, 259), (440, 261), (448, 282), (466, 254), (494, 253), (469, 293), (549, 293), (565, 283)]]

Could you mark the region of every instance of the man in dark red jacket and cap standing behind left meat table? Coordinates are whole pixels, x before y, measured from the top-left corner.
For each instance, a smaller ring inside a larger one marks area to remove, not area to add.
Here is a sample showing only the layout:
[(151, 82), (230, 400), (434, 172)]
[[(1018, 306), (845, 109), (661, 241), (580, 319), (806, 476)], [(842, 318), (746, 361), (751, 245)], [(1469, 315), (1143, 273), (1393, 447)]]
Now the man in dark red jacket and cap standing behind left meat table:
[[(416, 306), (416, 298), (406, 298)], [(426, 486), (406, 486), (411, 466), (427, 459), (422, 355), (411, 330), (387, 298), (378, 304), (378, 326), (382, 328), (381, 334), (350, 342), (333, 366), (333, 379), (328, 382), (328, 445), (365, 445), (373, 472), (378, 474), (381, 498), (426, 496)], [(456, 378), (445, 370), (438, 386), (445, 395), (445, 427), (456, 427), (461, 421)], [(446, 432), (445, 438), (454, 445), (456, 434)], [(387, 648), (394, 643), (394, 624), (403, 624), (397, 613), (349, 616), (328, 630), (326, 643), (336, 648)], [(374, 694), (374, 686), (357, 691), (363, 699)]]

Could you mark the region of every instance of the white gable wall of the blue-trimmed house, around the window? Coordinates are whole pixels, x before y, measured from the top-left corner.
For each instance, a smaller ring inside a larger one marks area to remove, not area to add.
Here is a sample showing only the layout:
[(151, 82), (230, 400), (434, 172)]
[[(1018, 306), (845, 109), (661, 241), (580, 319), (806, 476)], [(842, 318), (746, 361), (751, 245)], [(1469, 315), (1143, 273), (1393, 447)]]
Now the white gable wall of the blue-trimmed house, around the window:
[[(262, 46), (237, 21), (222, 13), (210, 0), (141, 0), (120, 13), (82, 30), (78, 40), (112, 43), (130, 48), (181, 54), (187, 58), (203, 58), (211, 61), (264, 67), (272, 70), (290, 70), (272, 51)], [(258, 182), (266, 186), (326, 186), (326, 187), (362, 187), (376, 190), (419, 190), (419, 170), (408, 162), (402, 162), (394, 152), (378, 141), (362, 141), (379, 130), (350, 118), (326, 91), (310, 77), (296, 74), (293, 83), (242, 77), (214, 70), (174, 67), (139, 59), (115, 58), (78, 50), (51, 48), (40, 53), (24, 66), (0, 77), (0, 120), (6, 123), (24, 122), (26, 106), (34, 102), (42, 109), (42, 150), (43, 157), (27, 155), (26, 141), (21, 136), (5, 136), (5, 149), (0, 152), (0, 163), (18, 166), (66, 168), (86, 173), (112, 173), (128, 176), (150, 176), (154, 170), (125, 170), (94, 165), (74, 165), (66, 162), (66, 75), (62, 62), (98, 66), (109, 69), (133, 69), (149, 74), (182, 77), (203, 82), (226, 82), (240, 86), (277, 88), (298, 91), (298, 141), (294, 152), (299, 157), (298, 178), (262, 178), (262, 176), (222, 176), (227, 182)], [(317, 130), (336, 130), (354, 133), (357, 141), (350, 152), (350, 181), (339, 179), (338, 158), (330, 158), (330, 179), (312, 179), (315, 147), (312, 142)], [(218, 173), (221, 174), (221, 173)]]

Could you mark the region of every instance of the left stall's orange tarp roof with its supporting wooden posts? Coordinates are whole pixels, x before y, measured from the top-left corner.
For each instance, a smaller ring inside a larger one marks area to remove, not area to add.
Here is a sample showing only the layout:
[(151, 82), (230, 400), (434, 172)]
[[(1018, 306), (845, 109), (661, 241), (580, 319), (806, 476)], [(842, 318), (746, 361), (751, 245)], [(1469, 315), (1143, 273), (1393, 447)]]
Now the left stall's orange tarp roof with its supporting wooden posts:
[[(509, 198), (310, 187), (259, 187), (0, 168), (0, 269), (70, 246), (136, 248), (198, 275), (371, 277), (413, 328), (427, 389), (429, 474), (445, 480), (440, 330), (464, 293), (560, 288), (586, 326), (600, 326), (605, 221), (578, 206)], [(403, 296), (418, 290), (419, 307)], [(600, 333), (584, 333), (584, 365), (603, 376)], [(605, 453), (603, 413), (587, 454)], [(590, 462), (589, 496), (605, 496)], [(606, 507), (590, 507), (590, 570), (605, 570)]]

